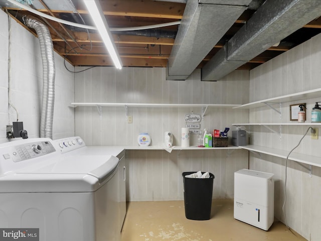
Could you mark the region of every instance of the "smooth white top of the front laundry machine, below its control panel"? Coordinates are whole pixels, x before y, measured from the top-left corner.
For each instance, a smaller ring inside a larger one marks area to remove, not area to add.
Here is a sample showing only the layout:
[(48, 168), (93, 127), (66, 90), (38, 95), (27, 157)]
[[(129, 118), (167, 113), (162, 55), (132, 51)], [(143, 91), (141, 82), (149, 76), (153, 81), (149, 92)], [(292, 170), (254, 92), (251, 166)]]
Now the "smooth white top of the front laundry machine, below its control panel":
[(114, 156), (62, 155), (0, 177), (0, 193), (93, 192), (112, 178), (118, 163)]

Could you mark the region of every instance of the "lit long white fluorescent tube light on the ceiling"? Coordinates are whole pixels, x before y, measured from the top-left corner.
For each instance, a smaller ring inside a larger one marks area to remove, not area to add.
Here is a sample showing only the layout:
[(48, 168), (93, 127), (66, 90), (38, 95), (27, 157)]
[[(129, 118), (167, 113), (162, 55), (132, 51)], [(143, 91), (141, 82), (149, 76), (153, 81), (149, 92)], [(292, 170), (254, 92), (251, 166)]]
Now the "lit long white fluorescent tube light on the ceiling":
[(121, 69), (122, 63), (118, 53), (116, 52), (116, 46), (112, 41), (112, 35), (110, 33), (106, 18), (101, 10), (98, 0), (84, 0), (84, 3), (94, 21), (97, 30), (104, 41), (104, 44), (109, 52), (109, 55), (114, 62), (117, 69)]

